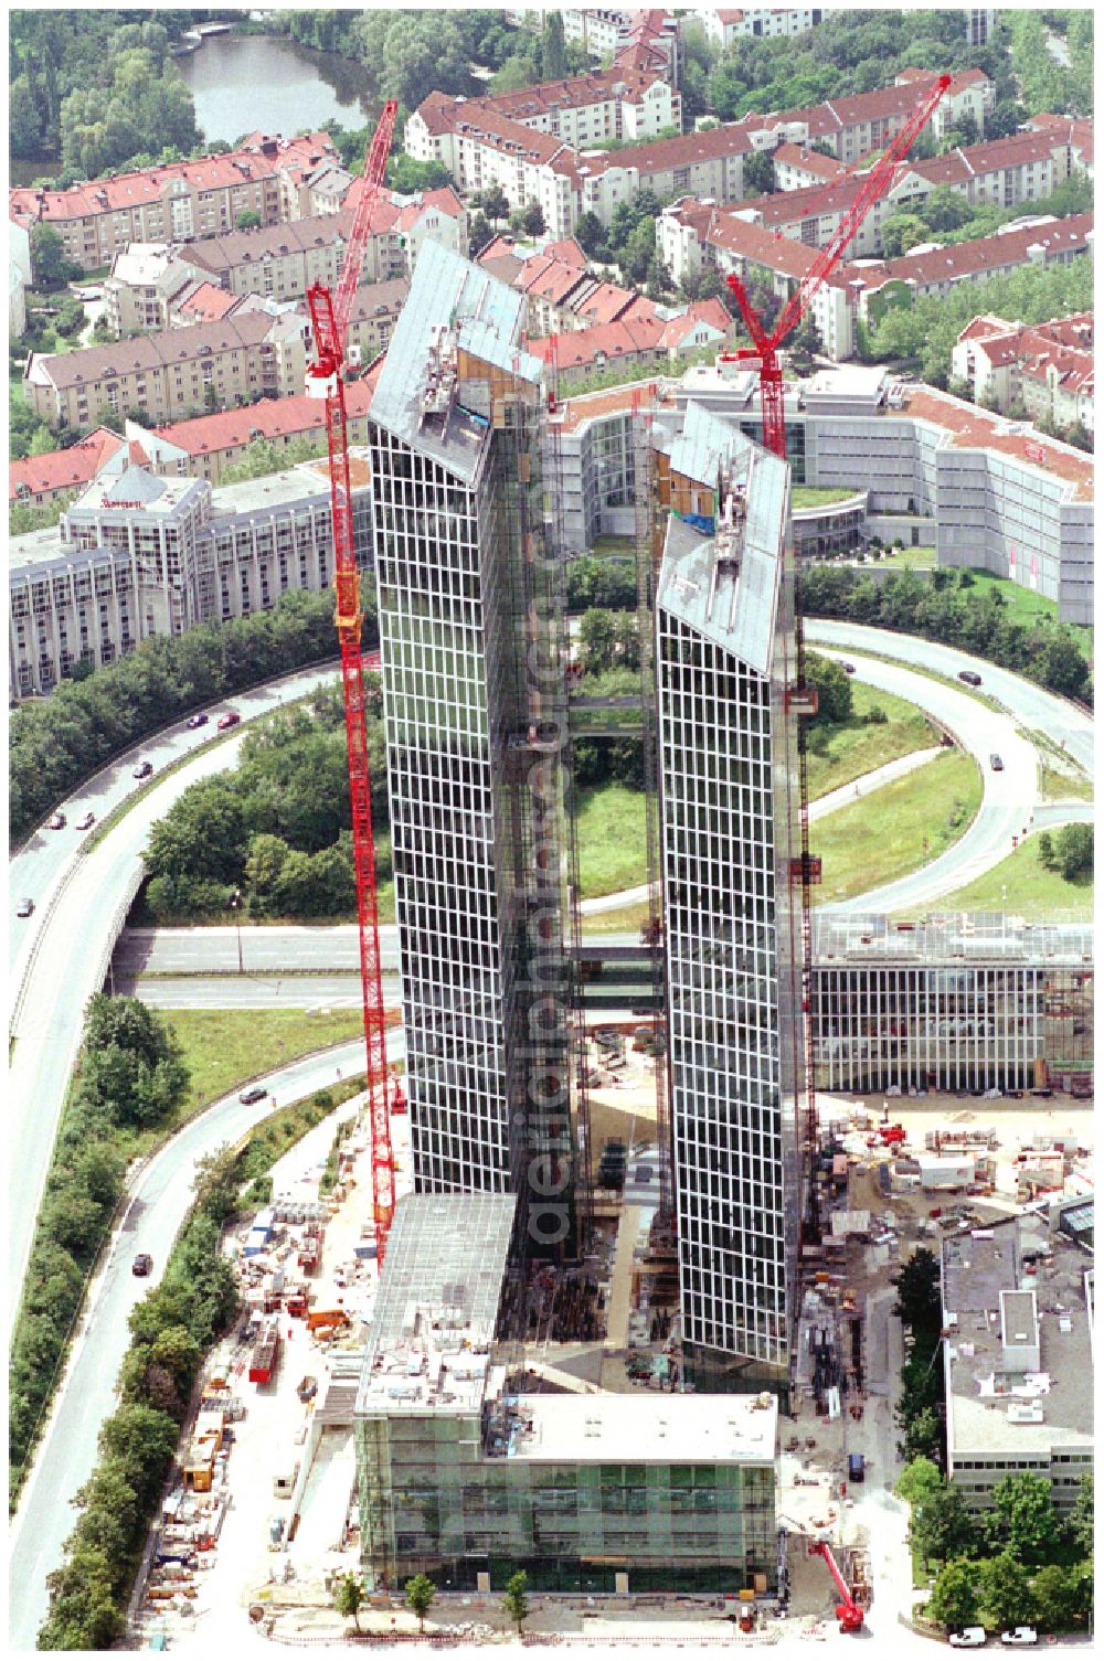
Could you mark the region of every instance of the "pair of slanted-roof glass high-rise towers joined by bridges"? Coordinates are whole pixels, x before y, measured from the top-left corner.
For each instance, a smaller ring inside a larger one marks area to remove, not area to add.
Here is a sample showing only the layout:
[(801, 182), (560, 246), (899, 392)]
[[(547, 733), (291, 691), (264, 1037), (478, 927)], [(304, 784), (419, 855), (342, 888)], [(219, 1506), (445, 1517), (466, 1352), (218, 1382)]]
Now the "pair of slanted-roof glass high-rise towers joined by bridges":
[(642, 683), (615, 731), (643, 751), (650, 902), (638, 945), (602, 947), (579, 909), (572, 757), (600, 711), (569, 694), (565, 415), (524, 319), (427, 243), (371, 405), (414, 1188), (515, 1193), (519, 1264), (585, 1257), (585, 1023), (615, 958), (655, 1012), (685, 1374), (785, 1397), (806, 1164), (788, 467), (693, 402), (627, 410)]

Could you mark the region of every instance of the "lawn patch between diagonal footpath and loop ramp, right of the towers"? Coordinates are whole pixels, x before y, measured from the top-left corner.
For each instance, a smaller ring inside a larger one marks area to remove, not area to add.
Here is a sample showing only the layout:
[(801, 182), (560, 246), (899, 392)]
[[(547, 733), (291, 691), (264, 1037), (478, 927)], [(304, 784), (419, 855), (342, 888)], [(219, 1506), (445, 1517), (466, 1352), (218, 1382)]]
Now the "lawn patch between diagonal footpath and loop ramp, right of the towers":
[(926, 865), (963, 835), (981, 806), (973, 756), (946, 751), (813, 827), (823, 860), (818, 905), (848, 900)]

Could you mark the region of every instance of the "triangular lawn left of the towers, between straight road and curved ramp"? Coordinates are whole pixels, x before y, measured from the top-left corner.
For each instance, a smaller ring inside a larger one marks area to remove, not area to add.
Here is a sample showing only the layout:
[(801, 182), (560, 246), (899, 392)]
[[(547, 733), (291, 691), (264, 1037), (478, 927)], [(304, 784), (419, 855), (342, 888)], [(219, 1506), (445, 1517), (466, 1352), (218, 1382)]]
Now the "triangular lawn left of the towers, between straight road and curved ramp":
[[(258, 1073), (294, 1061), (311, 1050), (356, 1038), (364, 1030), (361, 1010), (316, 1015), (308, 1010), (160, 1010), (171, 1028), (191, 1073), (188, 1095), (176, 1111), (183, 1123), (218, 1101), (228, 1090)], [(175, 1124), (158, 1124), (163, 1141)]]

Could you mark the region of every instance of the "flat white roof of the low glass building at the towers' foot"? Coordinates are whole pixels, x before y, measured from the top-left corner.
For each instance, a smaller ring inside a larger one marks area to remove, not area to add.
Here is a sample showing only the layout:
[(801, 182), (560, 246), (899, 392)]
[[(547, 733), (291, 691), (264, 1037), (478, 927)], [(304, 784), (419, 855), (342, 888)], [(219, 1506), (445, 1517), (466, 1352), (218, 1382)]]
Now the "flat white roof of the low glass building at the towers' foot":
[(773, 1465), (778, 1400), (712, 1395), (519, 1395), (507, 1458), (540, 1463)]

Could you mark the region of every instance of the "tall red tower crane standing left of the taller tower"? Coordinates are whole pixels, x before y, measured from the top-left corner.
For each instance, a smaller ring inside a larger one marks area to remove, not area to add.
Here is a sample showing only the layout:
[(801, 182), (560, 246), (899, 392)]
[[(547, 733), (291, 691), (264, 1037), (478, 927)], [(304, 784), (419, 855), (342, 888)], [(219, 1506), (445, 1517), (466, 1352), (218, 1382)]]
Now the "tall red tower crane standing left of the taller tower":
[(372, 796), (364, 726), (364, 668), (361, 661), (361, 573), (352, 546), (352, 485), (349, 470), (349, 425), (346, 419), (344, 369), (349, 311), (364, 262), (364, 247), (391, 151), (397, 103), (384, 105), (379, 125), (364, 156), (364, 184), (346, 244), (338, 292), (314, 282), (306, 291), (314, 331), (314, 364), (308, 374), (311, 397), (326, 399), (329, 443), (329, 498), (334, 527), (334, 623), (341, 644), (346, 742), (349, 751), (349, 801), (352, 804), (352, 865), (361, 943), (361, 997), (364, 1003), (364, 1045), (367, 1051), (367, 1106), (372, 1126), (372, 1216), (376, 1252), (382, 1267), (387, 1232), (394, 1216), (394, 1161), (387, 1118), (387, 1050), (384, 1041), (384, 992), (379, 968), (379, 919), (376, 907), (376, 845), (372, 839)]

